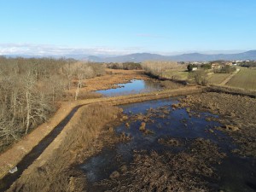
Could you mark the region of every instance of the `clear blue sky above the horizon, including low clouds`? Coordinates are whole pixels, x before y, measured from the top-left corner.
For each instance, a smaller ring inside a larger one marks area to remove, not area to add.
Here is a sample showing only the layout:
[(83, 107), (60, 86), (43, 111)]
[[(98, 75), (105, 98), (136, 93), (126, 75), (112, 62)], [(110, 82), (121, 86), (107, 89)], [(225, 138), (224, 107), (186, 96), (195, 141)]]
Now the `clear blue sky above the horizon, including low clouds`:
[(3, 0), (0, 54), (256, 49), (254, 0)]

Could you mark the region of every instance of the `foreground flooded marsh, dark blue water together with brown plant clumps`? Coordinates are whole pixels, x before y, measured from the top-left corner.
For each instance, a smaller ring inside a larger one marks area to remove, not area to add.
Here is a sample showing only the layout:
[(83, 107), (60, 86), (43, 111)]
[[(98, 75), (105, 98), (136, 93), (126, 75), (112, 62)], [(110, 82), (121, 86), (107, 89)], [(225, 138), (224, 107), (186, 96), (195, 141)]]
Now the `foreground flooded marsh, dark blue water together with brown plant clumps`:
[(235, 125), (207, 110), (209, 98), (197, 103), (202, 108), (190, 102), (199, 96), (121, 106), (115, 131), (129, 139), (77, 167), (84, 172), (84, 190), (255, 191), (255, 157), (242, 155), (230, 135)]

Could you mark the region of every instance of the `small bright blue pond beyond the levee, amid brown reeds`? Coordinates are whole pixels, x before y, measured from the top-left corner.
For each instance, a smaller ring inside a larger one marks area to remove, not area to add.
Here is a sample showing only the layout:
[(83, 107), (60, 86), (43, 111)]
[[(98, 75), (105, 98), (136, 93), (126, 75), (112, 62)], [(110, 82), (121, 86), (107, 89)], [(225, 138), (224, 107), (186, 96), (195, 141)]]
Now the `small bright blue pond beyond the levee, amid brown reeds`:
[(117, 86), (116, 89), (96, 90), (96, 92), (104, 96), (124, 96), (161, 89), (160, 83), (151, 80), (133, 79), (129, 83), (115, 85)]

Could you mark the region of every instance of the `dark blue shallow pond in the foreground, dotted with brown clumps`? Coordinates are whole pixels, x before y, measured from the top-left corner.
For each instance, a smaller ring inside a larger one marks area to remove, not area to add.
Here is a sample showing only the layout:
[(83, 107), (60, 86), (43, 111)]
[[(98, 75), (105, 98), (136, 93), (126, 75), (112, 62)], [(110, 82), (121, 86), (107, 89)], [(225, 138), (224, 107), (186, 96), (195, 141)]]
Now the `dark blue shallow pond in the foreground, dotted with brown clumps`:
[[(198, 141), (198, 138), (199, 141), (217, 145), (219, 154), (226, 154), (223, 163), (212, 168), (218, 174), (218, 180), (207, 178), (213, 189), (254, 191), (255, 160), (241, 158), (231, 153), (236, 146), (224, 132), (215, 129), (220, 124), (212, 119), (217, 119), (218, 116), (211, 113), (191, 112), (188, 108), (173, 108), (173, 104), (177, 102), (177, 98), (172, 98), (120, 106), (129, 119), (116, 127), (116, 132), (125, 133), (126, 136), (131, 137), (131, 140), (118, 143), (114, 148), (103, 148), (100, 154), (79, 166), (86, 174), (88, 191), (104, 191), (109, 184), (104, 186), (100, 183), (109, 180), (113, 172), (120, 172), (124, 165), (134, 166), (134, 154), (137, 152), (183, 154), (191, 148), (194, 141)], [(146, 122), (148, 134), (140, 130), (142, 122)], [(169, 139), (171, 144), (170, 142), (165, 144), (166, 139)], [(193, 158), (195, 159), (195, 156)], [(210, 158), (214, 159), (214, 157)], [(113, 179), (109, 181), (113, 182)]]

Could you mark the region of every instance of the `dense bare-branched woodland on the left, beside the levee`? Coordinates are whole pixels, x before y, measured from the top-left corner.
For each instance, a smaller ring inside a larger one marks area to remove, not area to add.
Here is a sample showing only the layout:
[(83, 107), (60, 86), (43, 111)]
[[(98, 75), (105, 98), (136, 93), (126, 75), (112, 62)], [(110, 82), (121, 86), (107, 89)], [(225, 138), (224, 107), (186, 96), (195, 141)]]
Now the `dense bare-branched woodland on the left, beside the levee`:
[(65, 90), (102, 75), (101, 64), (66, 59), (0, 57), (0, 151), (55, 112)]

